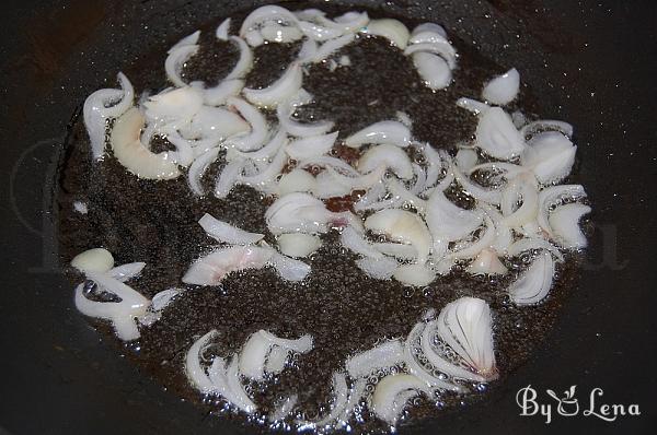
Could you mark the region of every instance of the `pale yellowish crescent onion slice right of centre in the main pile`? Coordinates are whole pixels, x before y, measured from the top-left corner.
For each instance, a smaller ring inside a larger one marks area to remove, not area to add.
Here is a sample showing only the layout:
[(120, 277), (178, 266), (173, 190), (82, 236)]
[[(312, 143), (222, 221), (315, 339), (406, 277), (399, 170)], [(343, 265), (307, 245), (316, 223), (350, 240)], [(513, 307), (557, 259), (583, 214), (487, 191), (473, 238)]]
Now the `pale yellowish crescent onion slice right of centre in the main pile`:
[(381, 210), (365, 220), (365, 227), (384, 234), (391, 240), (410, 244), (417, 250), (418, 263), (424, 263), (431, 247), (431, 235), (424, 221), (405, 210)]

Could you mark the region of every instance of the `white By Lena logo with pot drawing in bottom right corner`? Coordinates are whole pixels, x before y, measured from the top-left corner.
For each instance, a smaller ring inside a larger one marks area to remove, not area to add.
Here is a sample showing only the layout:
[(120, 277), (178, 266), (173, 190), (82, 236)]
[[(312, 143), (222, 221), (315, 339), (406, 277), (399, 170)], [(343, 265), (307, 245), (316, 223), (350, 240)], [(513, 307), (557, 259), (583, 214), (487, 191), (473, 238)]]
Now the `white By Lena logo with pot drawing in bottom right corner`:
[(638, 404), (606, 403), (602, 399), (602, 388), (593, 388), (587, 399), (588, 402), (580, 403), (576, 398), (577, 386), (573, 385), (560, 397), (551, 389), (546, 389), (545, 399), (542, 401), (539, 393), (531, 385), (520, 388), (516, 395), (516, 403), (520, 407), (521, 416), (541, 415), (545, 424), (550, 424), (554, 415), (572, 418), (576, 415), (592, 416), (606, 422), (614, 422), (622, 416), (638, 416), (641, 411)]

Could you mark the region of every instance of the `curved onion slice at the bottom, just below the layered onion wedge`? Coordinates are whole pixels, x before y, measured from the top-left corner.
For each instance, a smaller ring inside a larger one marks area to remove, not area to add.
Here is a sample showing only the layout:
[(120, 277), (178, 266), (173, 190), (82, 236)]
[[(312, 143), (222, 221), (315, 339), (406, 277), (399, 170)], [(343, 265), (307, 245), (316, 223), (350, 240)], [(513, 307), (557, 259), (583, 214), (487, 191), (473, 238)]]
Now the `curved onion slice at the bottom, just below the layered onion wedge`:
[(388, 424), (394, 425), (404, 410), (406, 402), (430, 391), (425, 383), (413, 375), (388, 375), (379, 381), (372, 395), (372, 412)]

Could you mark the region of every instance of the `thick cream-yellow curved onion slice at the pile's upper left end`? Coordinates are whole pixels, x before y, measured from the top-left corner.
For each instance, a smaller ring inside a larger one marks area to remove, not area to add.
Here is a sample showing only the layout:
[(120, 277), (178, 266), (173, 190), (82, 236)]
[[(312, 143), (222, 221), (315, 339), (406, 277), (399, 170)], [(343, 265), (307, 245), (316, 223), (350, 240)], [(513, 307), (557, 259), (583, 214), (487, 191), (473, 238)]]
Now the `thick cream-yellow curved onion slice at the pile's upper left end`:
[(112, 130), (114, 156), (130, 173), (146, 179), (173, 179), (180, 171), (169, 153), (153, 154), (140, 141), (143, 117), (137, 108), (124, 114)]

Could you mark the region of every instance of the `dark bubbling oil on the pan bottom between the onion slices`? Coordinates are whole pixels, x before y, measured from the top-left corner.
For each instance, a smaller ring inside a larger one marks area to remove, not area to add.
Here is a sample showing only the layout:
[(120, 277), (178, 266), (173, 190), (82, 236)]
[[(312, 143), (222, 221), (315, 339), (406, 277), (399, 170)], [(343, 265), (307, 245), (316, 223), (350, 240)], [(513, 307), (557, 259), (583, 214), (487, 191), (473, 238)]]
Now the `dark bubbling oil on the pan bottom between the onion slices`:
[[(377, 12), (372, 15), (377, 16)], [(211, 30), (219, 22), (205, 28), (200, 55), (185, 69), (187, 80), (217, 83), (235, 62), (237, 48), (211, 37)], [(415, 24), (408, 23), (410, 27)], [(422, 85), (410, 59), (381, 39), (360, 38), (339, 54), (350, 58), (350, 67), (339, 67), (333, 72), (324, 63), (310, 67), (303, 86), (315, 102), (304, 107), (299, 117), (335, 120), (339, 137), (345, 138), (371, 122), (394, 118), (401, 110), (414, 120), (414, 134), (419, 140), (451, 149), (459, 141), (469, 140), (475, 126), (469, 113), (454, 106), (456, 99), (476, 97), (487, 78), (508, 69), (483, 58), (461, 40), (454, 44), (460, 54), (456, 82), (448, 90), (434, 93)], [(141, 64), (150, 68), (127, 71), (139, 91), (165, 87), (166, 48), (157, 47), (145, 56)], [(298, 44), (256, 49), (247, 85), (258, 87), (275, 80), (298, 50)], [(529, 107), (531, 113), (540, 111), (528, 90), (523, 90), (519, 106)], [(58, 192), (59, 242), (65, 264), (92, 247), (107, 248), (117, 263), (145, 261), (143, 274), (132, 285), (152, 296), (164, 289), (183, 286), (181, 277), (188, 264), (214, 245), (197, 224), (204, 213), (247, 231), (266, 233), (263, 215), (268, 202), (249, 188), (237, 188), (224, 200), (211, 196), (195, 198), (186, 177), (139, 180), (112, 155), (91, 165), (82, 122), (74, 124), (68, 145)], [(219, 165), (214, 165), (204, 178), (208, 190)], [(73, 201), (87, 202), (89, 213), (73, 212)], [(268, 412), (279, 398), (296, 393), (299, 410), (313, 416), (328, 402), (328, 379), (344, 366), (345, 358), (381, 339), (405, 337), (429, 308), (439, 310), (448, 302), (473, 295), (487, 301), (494, 311), (502, 373), (498, 383), (503, 383), (527, 361), (534, 343), (550, 329), (563, 296), (574, 286), (577, 269), (576, 261), (567, 261), (566, 268), (558, 271), (546, 302), (520, 309), (508, 303), (504, 292), (518, 264), (508, 264), (512, 273), (499, 280), (456, 272), (425, 289), (404, 289), (396, 282), (367, 278), (334, 235), (325, 237), (324, 246), (311, 263), (313, 271), (301, 284), (283, 282), (272, 270), (256, 270), (231, 274), (219, 287), (187, 286), (185, 295), (164, 311), (159, 322), (142, 329), (139, 345), (124, 348), (123, 352), (175, 393), (207, 407), (208, 411), (218, 411), (217, 404), (201, 403), (184, 375), (184, 355), (199, 336), (217, 329), (218, 349), (228, 355), (258, 329), (286, 338), (310, 333), (314, 337), (313, 351), (298, 357), (295, 367), (276, 377), (255, 400), (263, 412)], [(74, 281), (80, 280), (74, 272), (71, 275)], [(97, 326), (111, 333), (106, 325)], [(136, 348), (138, 352), (130, 350)], [(447, 397), (443, 404), (456, 410), (461, 401), (471, 402), (480, 396)], [(411, 421), (439, 413), (434, 403), (423, 401), (411, 410)], [(232, 414), (230, 418), (241, 419)], [(383, 430), (377, 422), (369, 422), (364, 428)]]

